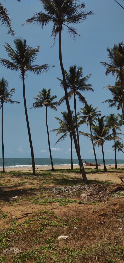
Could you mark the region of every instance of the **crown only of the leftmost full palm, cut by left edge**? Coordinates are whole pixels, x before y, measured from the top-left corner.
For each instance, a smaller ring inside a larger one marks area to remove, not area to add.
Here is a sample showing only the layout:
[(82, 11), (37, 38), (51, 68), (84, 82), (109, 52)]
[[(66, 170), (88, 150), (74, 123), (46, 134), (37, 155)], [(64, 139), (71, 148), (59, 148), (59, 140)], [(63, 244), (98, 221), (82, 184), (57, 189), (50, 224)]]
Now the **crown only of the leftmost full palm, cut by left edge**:
[(0, 108), (1, 104), (4, 102), (9, 102), (10, 104), (20, 103), (18, 101), (11, 100), (12, 95), (15, 93), (15, 89), (11, 89), (10, 91), (8, 91), (8, 88), (8, 81), (5, 78), (0, 79)]

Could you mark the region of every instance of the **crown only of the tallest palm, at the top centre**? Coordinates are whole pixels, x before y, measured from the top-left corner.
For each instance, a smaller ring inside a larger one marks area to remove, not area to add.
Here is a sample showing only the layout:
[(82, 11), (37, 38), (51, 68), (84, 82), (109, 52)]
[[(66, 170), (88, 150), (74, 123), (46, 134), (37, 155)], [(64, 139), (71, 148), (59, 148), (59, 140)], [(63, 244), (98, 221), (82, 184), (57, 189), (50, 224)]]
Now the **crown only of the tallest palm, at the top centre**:
[[(88, 15), (93, 14), (92, 11), (86, 12), (82, 11), (85, 8), (84, 3), (79, 4), (75, 0), (40, 0), (43, 4), (44, 12), (35, 13), (33, 17), (26, 20), (25, 24), (35, 23), (38, 26), (47, 26), (48, 23), (53, 22), (52, 37), (54, 37), (54, 42), (57, 33), (59, 32), (59, 27), (61, 27), (61, 32), (63, 26), (66, 26), (70, 36), (75, 37), (79, 35), (74, 27), (69, 26), (69, 24), (77, 24), (84, 21)], [(53, 42), (53, 43), (54, 43)]]

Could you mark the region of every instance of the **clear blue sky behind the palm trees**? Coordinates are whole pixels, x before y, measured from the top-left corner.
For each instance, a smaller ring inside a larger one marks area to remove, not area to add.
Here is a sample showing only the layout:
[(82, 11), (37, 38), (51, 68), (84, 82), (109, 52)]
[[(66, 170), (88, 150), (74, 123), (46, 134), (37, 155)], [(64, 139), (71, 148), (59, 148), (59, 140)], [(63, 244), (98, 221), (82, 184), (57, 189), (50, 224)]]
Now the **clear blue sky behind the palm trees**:
[[(123, 5), (122, 0), (118, 0)], [(57, 95), (59, 100), (64, 91), (59, 85), (56, 77), (62, 78), (59, 54), (58, 54), (58, 37), (55, 45), (51, 48), (53, 39), (51, 38), (52, 24), (42, 29), (33, 24), (21, 26), (26, 19), (33, 16), (35, 12), (42, 10), (42, 4), (39, 0), (6, 0), (2, 1), (3, 5), (8, 9), (12, 17), (12, 27), (16, 32), (16, 37), (27, 39), (30, 46), (36, 47), (40, 45), (40, 52), (37, 56), (36, 63), (55, 65), (47, 73), (41, 75), (28, 74), (25, 79), (25, 94), (28, 108), (29, 123), (35, 158), (49, 158), (47, 133), (45, 124), (45, 108), (29, 109), (36, 97), (38, 91), (42, 88), (51, 88), (51, 94)], [(116, 4), (114, 0), (87, 0), (84, 1), (86, 10), (92, 10), (94, 15), (88, 16), (87, 19), (76, 25), (82, 37), (76, 37), (75, 40), (67, 35), (66, 28), (62, 33), (62, 55), (64, 69), (69, 70), (70, 65), (76, 64), (83, 67), (83, 75), (92, 74), (89, 83), (92, 84), (93, 92), (85, 92), (84, 96), (89, 104), (98, 107), (103, 115), (110, 113), (119, 113), (116, 108), (107, 108), (107, 104), (101, 104), (105, 99), (111, 98), (108, 90), (101, 88), (111, 84), (114, 85), (115, 77), (105, 76), (105, 68), (100, 64), (101, 61), (107, 61), (107, 47), (113, 47), (114, 43), (121, 42), (123, 37), (123, 17), (124, 10)], [(14, 38), (7, 34), (7, 28), (1, 26), (0, 38), (0, 57), (8, 58), (4, 49), (4, 43), (9, 43), (13, 48)], [(30, 158), (30, 145), (28, 139), (28, 131), (24, 113), (23, 103), (23, 85), (19, 79), (19, 74), (7, 70), (0, 65), (1, 77), (9, 82), (9, 88), (15, 88), (16, 92), (13, 100), (18, 100), (19, 105), (4, 105), (4, 148), (5, 157), (8, 158)], [(73, 100), (70, 101), (73, 110)], [(83, 107), (77, 100), (77, 111)], [(61, 112), (66, 109), (66, 104), (62, 104), (57, 108), (57, 112), (48, 109), (48, 127), (49, 131), (58, 128), (55, 117), (62, 117)], [(121, 113), (121, 112), (120, 112)], [(89, 132), (86, 125), (82, 125), (80, 130)], [(122, 130), (123, 132), (123, 130)], [(55, 145), (57, 139), (56, 133), (50, 132), (50, 141), (53, 158), (70, 158), (70, 139), (66, 138), (63, 142)], [(124, 137), (122, 136), (124, 140)], [(1, 143), (0, 143), (1, 145)], [(114, 159), (112, 149), (113, 142), (104, 144), (105, 159)], [(73, 145), (74, 149), (74, 145)], [(82, 158), (94, 158), (91, 141), (87, 138), (80, 137), (80, 150)], [(96, 155), (98, 159), (102, 158), (101, 148), (96, 147)], [(2, 157), (2, 146), (0, 146), (0, 157)], [(73, 150), (73, 158), (77, 158), (75, 150)], [(123, 153), (117, 152), (117, 159), (123, 159)]]

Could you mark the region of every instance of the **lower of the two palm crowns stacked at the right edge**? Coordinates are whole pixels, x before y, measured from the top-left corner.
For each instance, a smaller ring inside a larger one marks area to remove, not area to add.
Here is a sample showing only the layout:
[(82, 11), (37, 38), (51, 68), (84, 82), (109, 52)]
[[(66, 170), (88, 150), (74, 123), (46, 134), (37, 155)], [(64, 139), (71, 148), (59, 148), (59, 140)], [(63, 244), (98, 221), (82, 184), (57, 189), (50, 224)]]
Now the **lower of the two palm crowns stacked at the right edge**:
[(108, 89), (111, 91), (113, 98), (112, 99), (107, 99), (103, 101), (102, 103), (108, 102), (109, 107), (117, 107), (117, 110), (121, 109), (122, 114), (124, 112), (123, 110), (123, 104), (122, 104), (122, 95), (121, 95), (121, 84), (120, 80), (115, 82), (115, 86), (106, 86), (103, 87), (103, 89)]

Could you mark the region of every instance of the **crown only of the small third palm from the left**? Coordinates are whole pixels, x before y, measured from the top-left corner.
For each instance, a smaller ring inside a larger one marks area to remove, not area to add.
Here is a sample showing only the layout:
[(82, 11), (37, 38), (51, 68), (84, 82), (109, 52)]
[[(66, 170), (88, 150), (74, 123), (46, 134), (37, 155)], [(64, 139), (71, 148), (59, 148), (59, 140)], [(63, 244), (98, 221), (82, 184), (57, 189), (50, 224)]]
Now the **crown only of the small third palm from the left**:
[(56, 99), (55, 96), (51, 96), (51, 89), (42, 89), (41, 92), (37, 95), (36, 102), (33, 103), (33, 108), (42, 108), (43, 106), (50, 107), (51, 109), (56, 110), (57, 102), (52, 102), (53, 99)]

